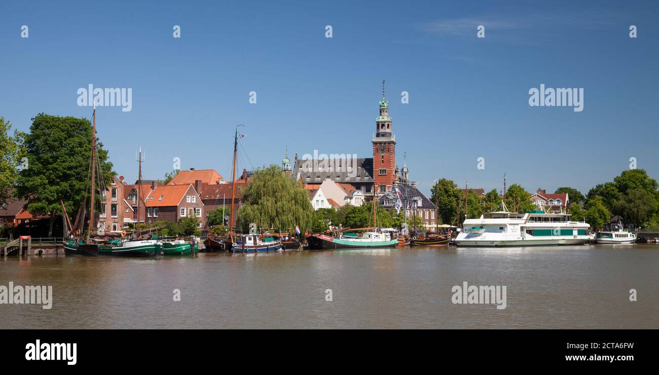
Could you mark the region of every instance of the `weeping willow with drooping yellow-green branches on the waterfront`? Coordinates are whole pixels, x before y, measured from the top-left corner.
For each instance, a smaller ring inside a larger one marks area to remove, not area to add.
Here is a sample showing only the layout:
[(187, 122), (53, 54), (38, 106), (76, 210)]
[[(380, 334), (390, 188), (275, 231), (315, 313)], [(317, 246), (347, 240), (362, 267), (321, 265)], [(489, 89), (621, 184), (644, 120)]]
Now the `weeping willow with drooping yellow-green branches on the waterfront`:
[[(238, 210), (238, 227), (248, 233), (250, 224), (257, 229), (278, 232), (311, 228), (314, 208), (309, 194), (299, 181), (285, 175), (280, 167), (272, 165), (254, 173), (243, 194), (244, 203)], [(253, 228), (253, 227), (252, 227)]]

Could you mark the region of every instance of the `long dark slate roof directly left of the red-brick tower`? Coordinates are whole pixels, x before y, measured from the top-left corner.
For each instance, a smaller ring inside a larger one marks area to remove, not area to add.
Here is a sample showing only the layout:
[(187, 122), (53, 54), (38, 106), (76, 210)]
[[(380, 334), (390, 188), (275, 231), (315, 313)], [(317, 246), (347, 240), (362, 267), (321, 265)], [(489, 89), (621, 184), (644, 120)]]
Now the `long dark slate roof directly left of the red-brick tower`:
[[(306, 164), (304, 164), (306, 163)], [(302, 183), (305, 184), (320, 184), (326, 179), (331, 179), (335, 183), (356, 183), (358, 185), (362, 183), (373, 183), (373, 158), (358, 158), (357, 159), (357, 173), (347, 171), (347, 168), (341, 165), (341, 170), (339, 171), (303, 171), (302, 167), (306, 165), (313, 165), (314, 160), (312, 159), (297, 159), (295, 161), (295, 166), (293, 167), (293, 176), (300, 177)], [(318, 161), (322, 163), (322, 161)], [(343, 160), (345, 163), (345, 160)], [(328, 161), (329, 165), (339, 165), (338, 162), (334, 163), (332, 160)], [(349, 175), (354, 175), (351, 177)]]

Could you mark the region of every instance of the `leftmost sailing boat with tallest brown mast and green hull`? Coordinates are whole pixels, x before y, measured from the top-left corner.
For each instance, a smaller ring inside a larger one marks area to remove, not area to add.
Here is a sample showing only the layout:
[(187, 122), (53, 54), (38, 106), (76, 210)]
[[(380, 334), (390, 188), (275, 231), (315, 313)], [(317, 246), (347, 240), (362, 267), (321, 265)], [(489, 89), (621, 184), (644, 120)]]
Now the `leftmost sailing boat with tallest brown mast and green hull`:
[[(64, 253), (67, 256), (157, 256), (162, 253), (161, 245), (158, 241), (153, 240), (136, 240), (127, 241), (124, 239), (95, 239), (96, 237), (96, 192), (105, 191), (105, 181), (103, 181), (103, 171), (100, 165), (100, 159), (96, 152), (96, 105), (92, 115), (92, 156), (88, 173), (90, 182), (89, 196), (82, 200), (76, 220), (71, 226), (69, 233), (64, 233), (63, 243)], [(90, 202), (87, 205), (87, 198)], [(62, 204), (64, 207), (64, 204)], [(65, 223), (71, 223), (63, 209)], [(88, 219), (89, 225), (86, 227), (85, 222)], [(69, 226), (69, 225), (65, 225)], [(67, 230), (68, 231), (68, 230)], [(83, 239), (84, 237), (84, 239)]]

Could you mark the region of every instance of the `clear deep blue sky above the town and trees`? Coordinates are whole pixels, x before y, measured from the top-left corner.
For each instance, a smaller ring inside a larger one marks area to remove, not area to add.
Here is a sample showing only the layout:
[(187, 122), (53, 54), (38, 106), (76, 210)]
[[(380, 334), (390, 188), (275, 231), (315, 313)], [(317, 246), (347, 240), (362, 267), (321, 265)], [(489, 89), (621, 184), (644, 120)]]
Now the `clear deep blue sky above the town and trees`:
[[(228, 179), (238, 123), (251, 161), (241, 169), (281, 163), (285, 146), (291, 159), (314, 149), (372, 156), (385, 79), (397, 164), (407, 152), (425, 192), (440, 177), (501, 190), (505, 172), (527, 190), (585, 193), (631, 157), (659, 179), (658, 9), (655, 1), (3, 1), (0, 116), (20, 130), (40, 112), (91, 118), (76, 104), (78, 88), (132, 88), (132, 111), (97, 113), (118, 175), (136, 179), (142, 146), (145, 179), (163, 177), (175, 157), (183, 169)], [(543, 83), (584, 88), (583, 111), (530, 107), (529, 89)], [(248, 103), (252, 90), (257, 104)]]

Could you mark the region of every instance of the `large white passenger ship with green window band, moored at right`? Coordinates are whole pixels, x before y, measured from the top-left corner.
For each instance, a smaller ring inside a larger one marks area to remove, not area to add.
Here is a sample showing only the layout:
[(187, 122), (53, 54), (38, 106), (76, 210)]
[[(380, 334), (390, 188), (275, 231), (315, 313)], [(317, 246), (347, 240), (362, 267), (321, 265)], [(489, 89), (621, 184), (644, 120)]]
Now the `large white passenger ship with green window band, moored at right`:
[(479, 219), (466, 219), (455, 239), (457, 246), (536, 246), (583, 245), (590, 239), (590, 225), (571, 221), (569, 214), (541, 210), (525, 214), (508, 212), (501, 202), (500, 211), (488, 212)]

